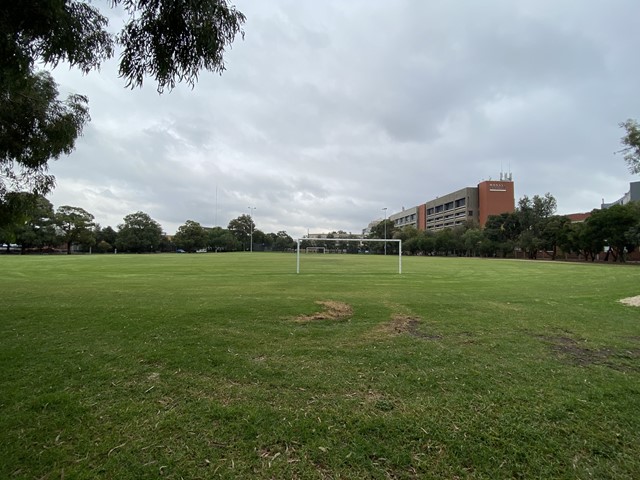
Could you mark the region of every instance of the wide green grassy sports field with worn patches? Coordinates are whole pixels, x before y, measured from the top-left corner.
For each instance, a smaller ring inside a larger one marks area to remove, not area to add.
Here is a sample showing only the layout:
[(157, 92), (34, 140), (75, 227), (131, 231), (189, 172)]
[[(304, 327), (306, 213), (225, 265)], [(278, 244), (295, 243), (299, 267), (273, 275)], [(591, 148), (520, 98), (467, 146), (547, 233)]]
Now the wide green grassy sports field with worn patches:
[[(640, 478), (640, 268), (0, 257), (0, 478)], [(323, 303), (318, 303), (323, 302)]]

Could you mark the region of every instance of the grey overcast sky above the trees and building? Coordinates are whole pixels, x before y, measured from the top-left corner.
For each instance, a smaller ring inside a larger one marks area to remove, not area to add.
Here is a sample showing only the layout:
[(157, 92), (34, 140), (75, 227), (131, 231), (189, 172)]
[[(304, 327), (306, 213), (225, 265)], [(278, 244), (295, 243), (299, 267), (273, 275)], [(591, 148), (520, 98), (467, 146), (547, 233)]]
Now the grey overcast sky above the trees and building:
[[(144, 211), (293, 237), (374, 219), (511, 171), (516, 201), (558, 213), (629, 189), (618, 123), (640, 119), (637, 0), (237, 1), (245, 38), (222, 76), (158, 95), (116, 61), (62, 92), (89, 97), (55, 207), (114, 228)], [(111, 12), (112, 26), (122, 20)]]

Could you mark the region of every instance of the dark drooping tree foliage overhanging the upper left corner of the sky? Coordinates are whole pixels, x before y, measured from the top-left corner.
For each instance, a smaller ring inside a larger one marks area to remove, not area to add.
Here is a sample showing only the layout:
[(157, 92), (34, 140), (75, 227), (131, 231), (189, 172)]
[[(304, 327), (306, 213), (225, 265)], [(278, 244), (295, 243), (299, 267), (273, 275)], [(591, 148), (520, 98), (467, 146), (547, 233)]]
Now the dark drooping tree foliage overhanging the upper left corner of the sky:
[(0, 203), (12, 191), (50, 191), (48, 162), (73, 151), (89, 120), (87, 98), (58, 98), (56, 83), (39, 65), (64, 62), (87, 73), (118, 46), (127, 86), (142, 86), (149, 76), (158, 92), (177, 82), (193, 87), (200, 71), (225, 69), (225, 49), (245, 21), (227, 0), (110, 4), (128, 15), (120, 32), (109, 29), (108, 18), (90, 0), (0, 2)]

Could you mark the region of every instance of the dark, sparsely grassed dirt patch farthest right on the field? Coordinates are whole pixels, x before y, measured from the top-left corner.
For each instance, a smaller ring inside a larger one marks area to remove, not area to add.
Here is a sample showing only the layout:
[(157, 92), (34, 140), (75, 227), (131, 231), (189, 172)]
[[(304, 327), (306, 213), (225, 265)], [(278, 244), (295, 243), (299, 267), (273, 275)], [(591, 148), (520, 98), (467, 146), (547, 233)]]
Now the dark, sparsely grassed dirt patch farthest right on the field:
[(551, 351), (558, 357), (574, 365), (604, 365), (618, 371), (638, 371), (640, 349), (589, 348), (585, 342), (579, 342), (565, 336), (544, 336), (538, 338), (550, 345)]

